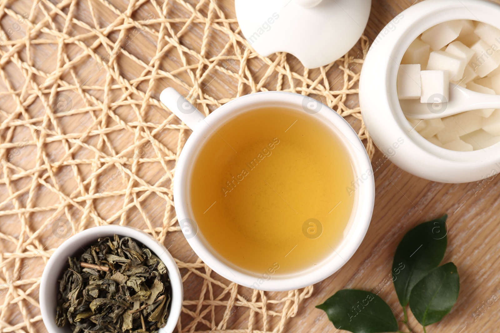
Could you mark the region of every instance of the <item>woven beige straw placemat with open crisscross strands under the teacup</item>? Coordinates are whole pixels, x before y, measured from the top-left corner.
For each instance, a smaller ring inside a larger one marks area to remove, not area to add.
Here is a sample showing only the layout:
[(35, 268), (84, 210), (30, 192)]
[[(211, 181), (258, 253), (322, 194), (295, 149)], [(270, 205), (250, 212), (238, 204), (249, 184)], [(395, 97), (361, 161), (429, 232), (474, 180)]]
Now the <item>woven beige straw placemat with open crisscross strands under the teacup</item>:
[(311, 95), (349, 116), (371, 156), (357, 106), (366, 38), (308, 70), (286, 53), (256, 54), (232, 1), (3, 0), (0, 14), (1, 331), (46, 332), (44, 264), (64, 239), (103, 224), (140, 228), (176, 258), (179, 332), (286, 330), (312, 287), (237, 286), (179, 232), (172, 177), (190, 131), (159, 92), (173, 86), (205, 114), (257, 91)]

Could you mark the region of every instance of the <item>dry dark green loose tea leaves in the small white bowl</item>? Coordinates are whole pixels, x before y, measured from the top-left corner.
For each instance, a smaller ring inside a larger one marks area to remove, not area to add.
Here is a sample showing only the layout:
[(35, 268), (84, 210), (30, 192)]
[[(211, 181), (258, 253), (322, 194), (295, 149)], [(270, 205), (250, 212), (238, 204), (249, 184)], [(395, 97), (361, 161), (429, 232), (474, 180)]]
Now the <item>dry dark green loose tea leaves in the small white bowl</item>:
[(59, 282), (55, 322), (73, 333), (153, 333), (163, 327), (170, 279), (151, 250), (129, 237), (99, 238)]

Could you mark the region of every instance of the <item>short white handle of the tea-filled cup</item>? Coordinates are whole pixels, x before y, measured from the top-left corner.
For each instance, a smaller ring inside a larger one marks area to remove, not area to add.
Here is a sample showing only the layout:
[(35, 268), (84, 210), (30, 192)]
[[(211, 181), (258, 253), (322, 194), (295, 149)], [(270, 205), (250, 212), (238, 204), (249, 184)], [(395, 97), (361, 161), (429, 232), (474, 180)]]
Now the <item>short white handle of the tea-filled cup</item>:
[(198, 109), (172, 87), (163, 89), (159, 100), (192, 130), (205, 119)]

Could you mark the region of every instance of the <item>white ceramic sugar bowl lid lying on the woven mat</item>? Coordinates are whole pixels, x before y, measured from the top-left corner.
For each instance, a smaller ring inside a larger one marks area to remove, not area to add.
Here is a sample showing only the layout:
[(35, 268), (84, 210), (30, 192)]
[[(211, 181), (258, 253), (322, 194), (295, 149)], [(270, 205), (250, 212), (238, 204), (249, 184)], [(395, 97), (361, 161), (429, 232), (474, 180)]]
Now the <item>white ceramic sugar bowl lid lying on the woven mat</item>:
[(264, 56), (288, 52), (305, 67), (343, 56), (364, 31), (371, 0), (235, 0), (241, 32)]

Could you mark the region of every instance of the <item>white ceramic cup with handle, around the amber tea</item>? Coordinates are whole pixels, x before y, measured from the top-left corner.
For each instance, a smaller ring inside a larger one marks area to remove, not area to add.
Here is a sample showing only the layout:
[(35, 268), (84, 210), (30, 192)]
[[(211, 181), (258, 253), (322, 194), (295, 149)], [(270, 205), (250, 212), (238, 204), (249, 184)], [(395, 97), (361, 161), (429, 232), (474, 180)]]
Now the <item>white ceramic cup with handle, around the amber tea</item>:
[[(258, 281), (256, 289), (286, 291), (306, 287), (327, 278), (354, 254), (363, 240), (371, 219), (374, 200), (373, 173), (366, 150), (357, 134), (335, 111), (311, 97), (282, 91), (258, 92), (238, 97), (222, 105), (206, 118), (173, 88), (163, 90), (160, 100), (193, 130), (182, 148), (175, 167), (173, 180), (175, 212), (189, 245), (213, 271), (245, 287), (255, 288), (255, 282)], [(343, 240), (322, 263), (300, 274), (273, 275), (268, 279), (262, 279), (259, 274), (250, 274), (225, 261), (207, 244), (197, 229), (190, 209), (188, 185), (194, 161), (203, 149), (203, 143), (215, 133), (214, 131), (244, 112), (272, 106), (307, 112), (326, 124), (341, 140), (350, 155), (354, 179), (359, 186), (354, 192), (354, 206)]]

